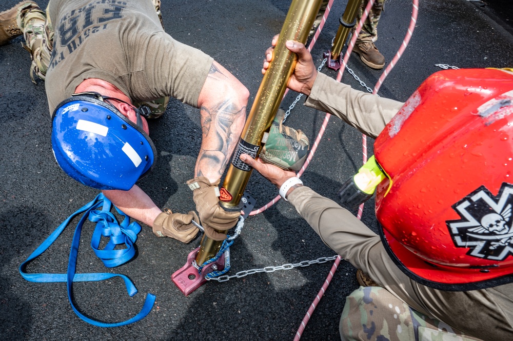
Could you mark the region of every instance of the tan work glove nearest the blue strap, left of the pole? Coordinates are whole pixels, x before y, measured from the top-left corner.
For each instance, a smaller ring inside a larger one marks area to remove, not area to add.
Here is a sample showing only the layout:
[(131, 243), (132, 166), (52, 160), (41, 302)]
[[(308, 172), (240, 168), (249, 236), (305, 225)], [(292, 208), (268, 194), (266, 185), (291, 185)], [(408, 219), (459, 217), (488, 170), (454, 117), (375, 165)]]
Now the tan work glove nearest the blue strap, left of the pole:
[(171, 237), (180, 240), (182, 243), (189, 243), (199, 229), (191, 222), (194, 219), (199, 224), (198, 214), (190, 211), (189, 214), (173, 213), (170, 209), (164, 209), (164, 212), (157, 215), (153, 222), (153, 233), (159, 237)]

